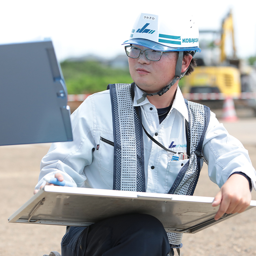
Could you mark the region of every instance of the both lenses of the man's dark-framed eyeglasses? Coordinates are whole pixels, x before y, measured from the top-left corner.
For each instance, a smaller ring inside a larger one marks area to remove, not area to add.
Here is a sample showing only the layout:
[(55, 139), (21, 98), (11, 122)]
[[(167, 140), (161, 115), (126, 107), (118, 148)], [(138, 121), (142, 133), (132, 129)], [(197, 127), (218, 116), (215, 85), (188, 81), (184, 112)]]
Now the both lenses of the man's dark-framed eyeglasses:
[(133, 59), (139, 58), (141, 53), (145, 53), (145, 56), (148, 60), (151, 61), (158, 61), (161, 59), (162, 53), (160, 51), (156, 51), (153, 49), (146, 49), (146, 50), (141, 50), (138, 47), (135, 46), (125, 46), (125, 51), (128, 57), (131, 57)]

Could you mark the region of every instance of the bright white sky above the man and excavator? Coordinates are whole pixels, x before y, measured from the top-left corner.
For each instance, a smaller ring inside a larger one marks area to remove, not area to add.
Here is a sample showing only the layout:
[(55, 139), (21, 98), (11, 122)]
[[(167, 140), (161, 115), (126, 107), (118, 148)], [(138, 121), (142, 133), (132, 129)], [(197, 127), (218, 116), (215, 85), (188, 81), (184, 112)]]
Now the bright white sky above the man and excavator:
[[(221, 28), (231, 9), (237, 55), (256, 55), (256, 11), (252, 0), (8, 0), (0, 4), (0, 44), (51, 38), (59, 61), (96, 54), (113, 58), (124, 53), (140, 12), (170, 10), (180, 18), (192, 12), (199, 29)], [(199, 39), (200, 40), (200, 39)]]

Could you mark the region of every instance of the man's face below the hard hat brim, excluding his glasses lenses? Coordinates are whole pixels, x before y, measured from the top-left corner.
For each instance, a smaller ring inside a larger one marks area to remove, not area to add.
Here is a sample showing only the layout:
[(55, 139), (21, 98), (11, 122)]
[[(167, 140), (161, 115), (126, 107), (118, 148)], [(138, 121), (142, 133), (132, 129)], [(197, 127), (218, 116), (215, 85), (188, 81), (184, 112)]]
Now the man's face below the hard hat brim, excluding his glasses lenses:
[[(139, 45), (133, 46), (138, 46), (142, 50), (148, 49)], [(177, 52), (163, 52), (159, 61), (147, 60), (144, 53), (138, 59), (128, 57), (132, 80), (146, 93), (158, 92), (172, 82), (177, 55)]]

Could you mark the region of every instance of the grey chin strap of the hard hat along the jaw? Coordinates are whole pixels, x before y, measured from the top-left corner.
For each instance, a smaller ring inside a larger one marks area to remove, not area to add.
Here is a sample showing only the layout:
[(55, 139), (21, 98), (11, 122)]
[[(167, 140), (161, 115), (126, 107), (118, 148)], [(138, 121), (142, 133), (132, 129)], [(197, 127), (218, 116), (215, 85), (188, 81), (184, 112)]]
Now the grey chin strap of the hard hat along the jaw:
[(142, 103), (147, 96), (153, 96), (153, 95), (159, 95), (162, 96), (164, 93), (166, 93), (166, 91), (168, 91), (173, 84), (175, 84), (179, 79), (181, 79), (187, 72), (187, 70), (183, 73), (181, 73), (181, 68), (182, 68), (182, 60), (183, 60), (183, 52), (180, 51), (178, 52), (178, 60), (177, 60), (177, 64), (176, 64), (176, 69), (175, 69), (175, 76), (174, 79), (172, 80), (172, 82), (168, 85), (166, 85), (165, 87), (163, 87), (160, 91), (158, 91), (157, 93), (143, 93), (142, 97), (140, 99), (137, 100), (137, 104)]

